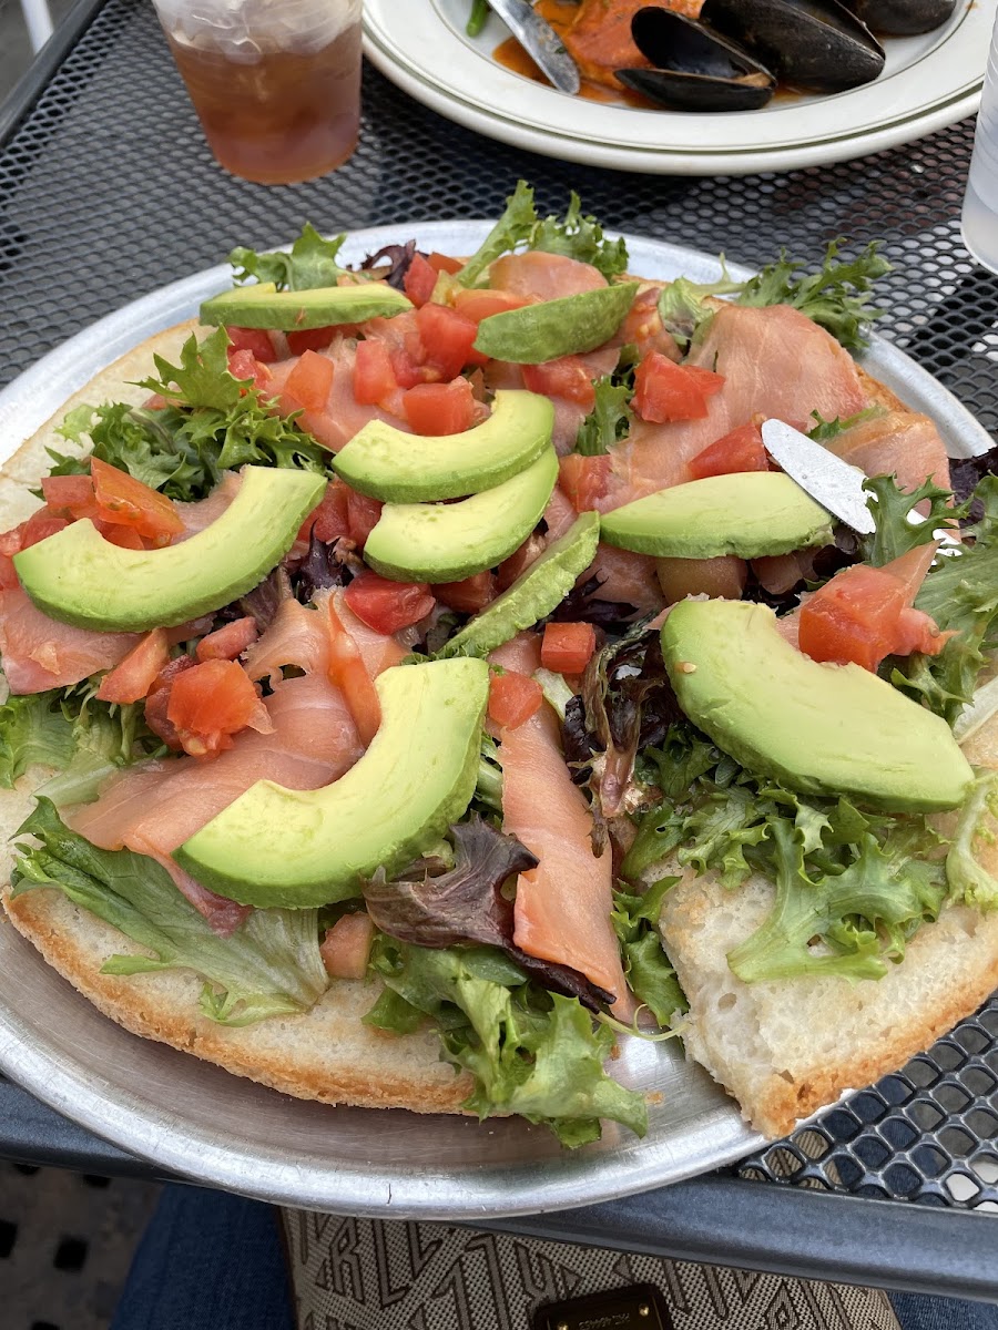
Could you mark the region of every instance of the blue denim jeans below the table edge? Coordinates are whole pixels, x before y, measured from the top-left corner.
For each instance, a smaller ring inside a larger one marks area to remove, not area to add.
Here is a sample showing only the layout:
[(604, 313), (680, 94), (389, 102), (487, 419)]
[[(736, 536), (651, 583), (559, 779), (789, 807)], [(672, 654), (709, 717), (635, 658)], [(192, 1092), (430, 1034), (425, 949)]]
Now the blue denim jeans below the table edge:
[[(902, 1330), (998, 1330), (998, 1305), (913, 1293), (890, 1301)], [(166, 1186), (110, 1330), (294, 1330), (291, 1306), (275, 1210)]]

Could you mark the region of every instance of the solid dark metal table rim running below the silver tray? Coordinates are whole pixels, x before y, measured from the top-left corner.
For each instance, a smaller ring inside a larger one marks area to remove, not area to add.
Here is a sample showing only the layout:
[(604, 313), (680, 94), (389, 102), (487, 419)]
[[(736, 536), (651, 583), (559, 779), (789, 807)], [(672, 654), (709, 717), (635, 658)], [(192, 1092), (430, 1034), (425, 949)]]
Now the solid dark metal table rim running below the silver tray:
[[(12, 1081), (0, 1081), (0, 1125), (4, 1154), (20, 1164), (169, 1180)], [(603, 1205), (483, 1218), (475, 1226), (800, 1278), (841, 1282), (848, 1273), (850, 1283), (870, 1287), (998, 1301), (993, 1222), (922, 1205), (898, 1216), (893, 1201), (708, 1174)]]

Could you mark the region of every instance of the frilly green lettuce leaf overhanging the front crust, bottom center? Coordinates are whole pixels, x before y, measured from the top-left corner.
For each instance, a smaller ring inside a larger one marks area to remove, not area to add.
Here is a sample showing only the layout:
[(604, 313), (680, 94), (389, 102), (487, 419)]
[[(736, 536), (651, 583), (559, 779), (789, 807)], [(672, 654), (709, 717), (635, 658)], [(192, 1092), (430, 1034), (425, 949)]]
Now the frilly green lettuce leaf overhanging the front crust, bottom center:
[(644, 1100), (603, 1069), (611, 1031), (593, 1028), (575, 999), (526, 983), (500, 952), (428, 951), (379, 936), (371, 967), (395, 1000), (379, 999), (365, 1021), (411, 1032), (414, 1012), (430, 1016), (442, 1057), (475, 1077), (463, 1107), (480, 1119), (520, 1113), (568, 1146), (597, 1140), (601, 1117), (644, 1136)]

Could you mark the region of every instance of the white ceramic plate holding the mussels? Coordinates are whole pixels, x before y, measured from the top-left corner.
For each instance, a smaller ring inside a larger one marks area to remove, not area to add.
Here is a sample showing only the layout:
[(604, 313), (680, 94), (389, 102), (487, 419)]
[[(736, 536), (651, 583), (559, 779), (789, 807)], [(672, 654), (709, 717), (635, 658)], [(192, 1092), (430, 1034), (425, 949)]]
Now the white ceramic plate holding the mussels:
[(744, 176), (845, 161), (974, 114), (998, 0), (961, 0), (935, 32), (885, 40), (876, 82), (762, 110), (691, 114), (571, 97), (492, 59), (508, 31), (464, 24), (471, 0), (365, 0), (365, 51), (393, 82), (450, 120), (547, 157), (676, 176)]

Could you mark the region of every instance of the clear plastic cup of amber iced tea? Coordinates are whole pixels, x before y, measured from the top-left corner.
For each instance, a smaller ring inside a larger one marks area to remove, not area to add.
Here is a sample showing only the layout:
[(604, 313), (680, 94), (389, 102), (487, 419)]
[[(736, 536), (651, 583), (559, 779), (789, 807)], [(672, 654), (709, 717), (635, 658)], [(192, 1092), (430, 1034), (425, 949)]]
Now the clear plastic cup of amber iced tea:
[(154, 0), (209, 148), (261, 185), (341, 166), (361, 122), (361, 0)]

